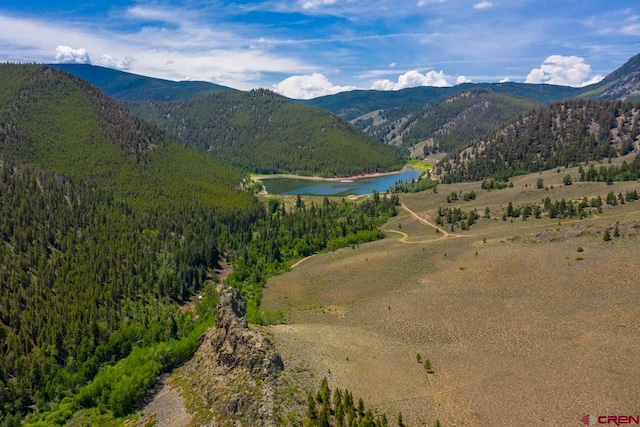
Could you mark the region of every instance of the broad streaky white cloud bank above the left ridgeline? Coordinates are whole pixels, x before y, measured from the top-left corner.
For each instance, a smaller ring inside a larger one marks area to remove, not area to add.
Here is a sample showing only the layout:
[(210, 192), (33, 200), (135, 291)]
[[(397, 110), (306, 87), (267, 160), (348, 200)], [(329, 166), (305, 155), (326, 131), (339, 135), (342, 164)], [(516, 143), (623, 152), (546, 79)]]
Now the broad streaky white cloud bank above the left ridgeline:
[[(141, 9), (120, 19), (154, 17)], [(19, 18), (0, 12), (0, 57), (17, 62), (91, 62), (129, 67), (136, 74), (168, 80), (215, 81), (237, 89), (264, 86), (262, 73), (309, 73), (315, 66), (292, 55), (267, 48), (250, 49), (247, 40), (225, 28), (191, 21), (179, 10), (156, 15), (174, 16), (180, 25), (145, 26), (134, 33), (117, 33), (84, 21), (57, 22)], [(145, 15), (146, 13), (146, 15)], [(56, 49), (58, 46), (58, 49)], [(82, 49), (69, 46), (82, 46)], [(135, 61), (133, 61), (135, 58)], [(124, 69), (124, 68), (121, 68)]]

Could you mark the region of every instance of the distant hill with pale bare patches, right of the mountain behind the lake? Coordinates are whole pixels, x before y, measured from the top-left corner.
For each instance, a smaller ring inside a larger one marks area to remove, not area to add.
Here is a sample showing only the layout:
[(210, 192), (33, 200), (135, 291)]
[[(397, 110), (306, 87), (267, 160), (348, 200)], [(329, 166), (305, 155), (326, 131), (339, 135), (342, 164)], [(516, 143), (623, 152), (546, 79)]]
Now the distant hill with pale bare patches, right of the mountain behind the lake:
[(421, 108), (407, 105), (378, 110), (353, 122), (387, 144), (428, 156), (466, 148), (479, 135), (540, 105), (527, 98), (472, 88)]

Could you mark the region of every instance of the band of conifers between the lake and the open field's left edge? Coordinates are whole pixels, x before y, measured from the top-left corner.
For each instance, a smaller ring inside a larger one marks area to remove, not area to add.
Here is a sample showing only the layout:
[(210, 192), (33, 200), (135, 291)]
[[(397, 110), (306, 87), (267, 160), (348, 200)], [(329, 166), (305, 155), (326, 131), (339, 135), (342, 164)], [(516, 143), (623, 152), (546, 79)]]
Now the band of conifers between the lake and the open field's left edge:
[(228, 283), (242, 289), (247, 319), (262, 322), (258, 307), (269, 277), (284, 271), (294, 259), (383, 238), (380, 226), (397, 214), (398, 204), (397, 194), (377, 191), (360, 203), (325, 197), (322, 204), (307, 206), (298, 196), (291, 209), (270, 200), (262, 219), (250, 228), (253, 238), (232, 255), (234, 271)]

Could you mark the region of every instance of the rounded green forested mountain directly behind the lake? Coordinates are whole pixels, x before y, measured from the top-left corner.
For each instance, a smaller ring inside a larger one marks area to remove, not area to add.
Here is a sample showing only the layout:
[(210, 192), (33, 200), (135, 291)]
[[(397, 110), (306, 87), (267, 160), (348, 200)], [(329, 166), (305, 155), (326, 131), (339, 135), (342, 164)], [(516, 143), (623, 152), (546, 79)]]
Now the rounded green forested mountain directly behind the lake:
[(353, 176), (405, 162), (397, 149), (336, 115), (265, 89), (126, 106), (214, 158), (255, 172)]

